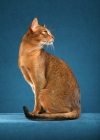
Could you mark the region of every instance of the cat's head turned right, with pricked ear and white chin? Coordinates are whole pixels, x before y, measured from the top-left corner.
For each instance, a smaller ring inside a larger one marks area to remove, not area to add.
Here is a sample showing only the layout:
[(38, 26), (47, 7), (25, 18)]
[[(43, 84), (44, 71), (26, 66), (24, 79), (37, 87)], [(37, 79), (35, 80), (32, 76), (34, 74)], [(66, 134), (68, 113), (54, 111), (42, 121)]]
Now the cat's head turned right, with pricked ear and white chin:
[(38, 24), (38, 19), (35, 18), (28, 31), (28, 36), (30, 36), (31, 41), (38, 42), (40, 45), (52, 45), (54, 41), (54, 36), (45, 27), (45, 25), (40, 26)]

